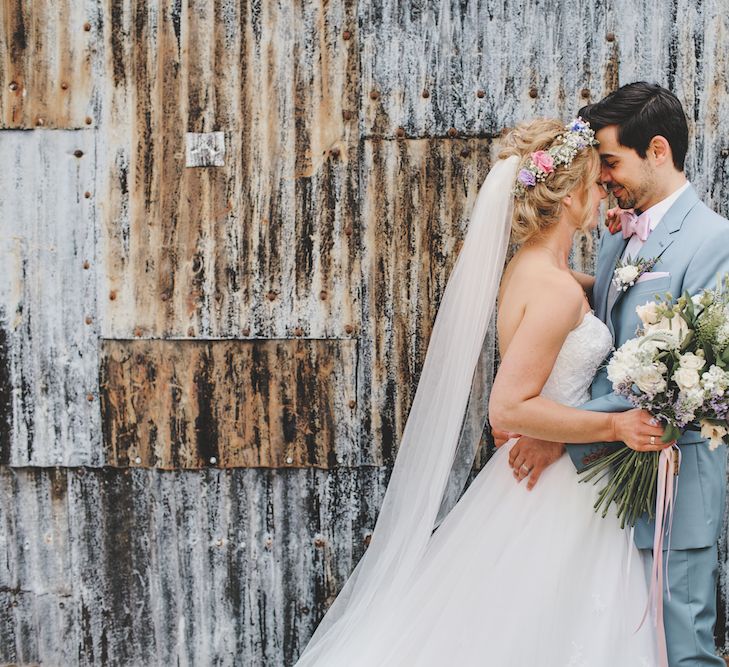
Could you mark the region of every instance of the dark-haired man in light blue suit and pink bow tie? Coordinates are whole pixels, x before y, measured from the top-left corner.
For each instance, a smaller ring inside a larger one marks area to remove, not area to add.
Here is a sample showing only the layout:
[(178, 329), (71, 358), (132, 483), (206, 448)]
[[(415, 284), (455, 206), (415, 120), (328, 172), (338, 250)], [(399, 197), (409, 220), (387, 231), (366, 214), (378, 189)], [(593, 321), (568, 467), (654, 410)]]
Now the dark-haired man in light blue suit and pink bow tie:
[[(686, 180), (688, 129), (673, 93), (656, 84), (631, 83), (582, 108), (580, 116), (589, 121), (600, 142), (603, 183), (620, 208), (639, 213), (637, 219), (626, 219), (622, 233), (603, 234), (598, 252), (595, 311), (618, 347), (635, 336), (640, 324), (636, 306), (664, 292), (679, 296), (688, 290), (693, 295), (715, 286), (717, 274), (729, 272), (729, 221), (707, 208)], [(628, 257), (659, 261), (622, 292), (611, 283), (617, 261)], [(632, 407), (612, 393), (605, 368), (593, 382), (592, 399), (582, 407), (599, 412)], [(715, 655), (714, 625), (726, 447), (711, 451), (695, 431), (687, 431), (678, 445), (682, 458), (668, 563), (670, 599), (664, 590), (669, 664), (724, 667)], [(594, 443), (570, 445), (567, 450), (580, 470), (613, 447), (614, 443)], [(530, 469), (529, 486), (533, 486), (563, 451), (558, 443), (522, 438), (510, 456), (515, 476), (521, 480), (519, 470)], [(635, 543), (648, 556), (653, 530), (647, 515), (635, 526)]]

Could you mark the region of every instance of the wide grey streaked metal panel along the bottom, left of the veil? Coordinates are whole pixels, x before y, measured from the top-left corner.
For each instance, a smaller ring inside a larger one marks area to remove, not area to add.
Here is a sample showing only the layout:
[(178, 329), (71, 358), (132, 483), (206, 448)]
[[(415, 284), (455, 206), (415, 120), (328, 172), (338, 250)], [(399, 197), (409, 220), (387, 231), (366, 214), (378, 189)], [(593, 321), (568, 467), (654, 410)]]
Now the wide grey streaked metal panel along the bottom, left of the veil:
[(385, 481), (2, 468), (0, 662), (290, 665), (366, 548)]

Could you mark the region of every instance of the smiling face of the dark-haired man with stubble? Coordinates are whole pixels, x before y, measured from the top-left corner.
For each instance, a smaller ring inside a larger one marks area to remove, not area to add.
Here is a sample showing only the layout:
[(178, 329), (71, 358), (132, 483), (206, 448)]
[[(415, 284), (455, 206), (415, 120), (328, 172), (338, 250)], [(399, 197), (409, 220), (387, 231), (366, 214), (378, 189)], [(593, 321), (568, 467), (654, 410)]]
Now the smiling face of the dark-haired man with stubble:
[(655, 170), (648, 159), (618, 141), (617, 125), (608, 125), (595, 135), (600, 142), (600, 178), (615, 195), (620, 208), (645, 209), (655, 189)]

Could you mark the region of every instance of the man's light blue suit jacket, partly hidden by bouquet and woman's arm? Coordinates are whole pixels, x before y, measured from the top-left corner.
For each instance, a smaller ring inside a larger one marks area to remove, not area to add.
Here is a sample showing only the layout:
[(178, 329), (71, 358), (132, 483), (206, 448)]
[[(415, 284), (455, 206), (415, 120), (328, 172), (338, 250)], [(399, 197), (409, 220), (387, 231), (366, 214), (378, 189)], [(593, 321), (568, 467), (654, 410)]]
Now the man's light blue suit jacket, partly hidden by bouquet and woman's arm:
[[(684, 290), (690, 294), (716, 285), (717, 274), (729, 272), (729, 221), (707, 208), (689, 187), (651, 232), (638, 257), (660, 257), (655, 272), (669, 276), (636, 283), (627, 292), (609, 299), (609, 287), (617, 260), (627, 241), (622, 234), (604, 234), (600, 242), (593, 291), (596, 315), (613, 334), (615, 347), (635, 336), (640, 320), (635, 307), (652, 301), (656, 294)], [(629, 402), (613, 393), (607, 371), (600, 368), (592, 384), (592, 400), (581, 406), (597, 412), (630, 409)], [(711, 451), (696, 431), (687, 431), (678, 443), (681, 470), (673, 516), (672, 549), (697, 549), (719, 539), (726, 494), (726, 447)], [(567, 451), (578, 470), (602, 456), (615, 443), (569, 445)], [(641, 549), (653, 546), (653, 521), (647, 515), (635, 526), (635, 543)], [(667, 541), (664, 540), (667, 545)]]

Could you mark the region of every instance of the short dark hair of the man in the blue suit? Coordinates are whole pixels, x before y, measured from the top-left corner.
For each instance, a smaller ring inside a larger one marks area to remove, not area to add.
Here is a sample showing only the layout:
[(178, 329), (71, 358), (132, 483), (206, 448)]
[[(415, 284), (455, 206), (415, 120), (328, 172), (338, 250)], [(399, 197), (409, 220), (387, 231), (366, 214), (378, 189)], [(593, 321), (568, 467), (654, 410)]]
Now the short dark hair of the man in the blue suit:
[(678, 98), (657, 83), (637, 81), (621, 86), (595, 104), (580, 109), (579, 115), (595, 132), (618, 126), (618, 141), (645, 158), (653, 137), (668, 141), (673, 164), (683, 171), (688, 150), (686, 114)]

